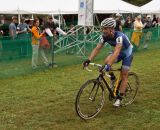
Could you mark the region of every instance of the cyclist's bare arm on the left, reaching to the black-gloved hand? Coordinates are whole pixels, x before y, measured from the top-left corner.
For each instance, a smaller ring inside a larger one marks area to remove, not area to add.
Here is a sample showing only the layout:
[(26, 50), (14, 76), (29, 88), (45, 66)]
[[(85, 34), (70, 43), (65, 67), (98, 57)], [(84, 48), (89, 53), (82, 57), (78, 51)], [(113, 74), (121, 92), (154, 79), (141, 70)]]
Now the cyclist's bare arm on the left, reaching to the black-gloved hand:
[(96, 48), (94, 48), (94, 50), (92, 51), (91, 55), (89, 56), (89, 60), (93, 60), (94, 57), (96, 57), (96, 55), (99, 53), (99, 51), (101, 50), (101, 48), (103, 47), (104, 44), (99, 43)]

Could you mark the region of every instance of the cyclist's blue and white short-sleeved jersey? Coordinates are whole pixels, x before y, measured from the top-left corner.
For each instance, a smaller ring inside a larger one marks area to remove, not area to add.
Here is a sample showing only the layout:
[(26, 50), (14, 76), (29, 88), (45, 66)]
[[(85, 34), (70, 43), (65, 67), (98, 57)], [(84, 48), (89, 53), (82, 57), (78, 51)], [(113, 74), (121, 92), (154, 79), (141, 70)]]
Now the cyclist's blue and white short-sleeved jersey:
[(132, 54), (133, 46), (130, 43), (128, 37), (122, 32), (115, 31), (113, 38), (109, 38), (101, 35), (100, 43), (101, 44), (108, 43), (113, 47), (115, 47), (117, 44), (122, 44), (120, 55), (123, 55), (124, 58), (129, 57)]

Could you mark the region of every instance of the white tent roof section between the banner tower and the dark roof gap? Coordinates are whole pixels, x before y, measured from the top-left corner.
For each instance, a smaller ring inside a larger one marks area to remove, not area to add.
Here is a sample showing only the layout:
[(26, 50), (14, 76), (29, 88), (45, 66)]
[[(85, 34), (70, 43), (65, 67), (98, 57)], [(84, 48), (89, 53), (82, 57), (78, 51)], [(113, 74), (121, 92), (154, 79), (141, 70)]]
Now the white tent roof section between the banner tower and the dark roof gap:
[(138, 6), (122, 0), (94, 0), (94, 13), (140, 13)]

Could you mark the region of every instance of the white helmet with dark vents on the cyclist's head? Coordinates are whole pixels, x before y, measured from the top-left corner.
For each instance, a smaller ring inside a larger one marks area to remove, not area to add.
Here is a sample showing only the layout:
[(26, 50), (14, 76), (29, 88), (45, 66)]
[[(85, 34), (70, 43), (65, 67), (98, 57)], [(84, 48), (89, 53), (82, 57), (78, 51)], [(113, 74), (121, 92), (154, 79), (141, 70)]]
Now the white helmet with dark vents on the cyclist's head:
[(106, 18), (101, 22), (101, 27), (114, 27), (116, 26), (116, 21), (113, 18)]

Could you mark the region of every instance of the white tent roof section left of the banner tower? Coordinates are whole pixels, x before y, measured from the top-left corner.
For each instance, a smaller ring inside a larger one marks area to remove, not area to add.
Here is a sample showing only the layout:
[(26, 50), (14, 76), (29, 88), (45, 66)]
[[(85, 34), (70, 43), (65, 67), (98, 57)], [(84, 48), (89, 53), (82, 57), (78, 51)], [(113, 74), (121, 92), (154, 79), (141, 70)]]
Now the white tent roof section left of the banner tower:
[(78, 0), (0, 0), (0, 14), (77, 14)]

